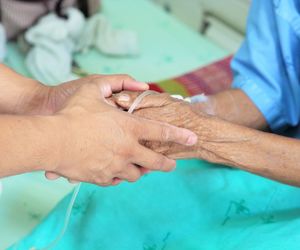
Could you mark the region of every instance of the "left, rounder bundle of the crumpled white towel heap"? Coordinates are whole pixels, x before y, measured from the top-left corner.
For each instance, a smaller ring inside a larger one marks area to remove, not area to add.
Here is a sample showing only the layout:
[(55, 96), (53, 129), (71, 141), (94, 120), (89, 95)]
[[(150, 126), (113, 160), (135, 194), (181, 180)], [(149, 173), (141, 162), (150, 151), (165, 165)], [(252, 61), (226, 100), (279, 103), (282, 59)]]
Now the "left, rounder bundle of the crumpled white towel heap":
[(34, 78), (49, 85), (77, 78), (71, 73), (72, 56), (85, 19), (75, 8), (67, 9), (66, 14), (68, 19), (49, 14), (25, 34), (26, 41), (33, 45), (26, 65)]

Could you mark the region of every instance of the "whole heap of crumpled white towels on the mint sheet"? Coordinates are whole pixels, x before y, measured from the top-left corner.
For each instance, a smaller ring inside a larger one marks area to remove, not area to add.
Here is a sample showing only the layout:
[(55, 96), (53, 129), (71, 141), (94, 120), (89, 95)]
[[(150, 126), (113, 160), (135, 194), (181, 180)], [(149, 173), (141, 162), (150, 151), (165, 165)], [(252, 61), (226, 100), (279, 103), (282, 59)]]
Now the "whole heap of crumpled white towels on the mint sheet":
[(25, 40), (33, 46), (26, 65), (37, 80), (56, 85), (76, 79), (72, 74), (73, 54), (90, 47), (114, 56), (138, 54), (135, 32), (114, 30), (101, 14), (88, 20), (75, 8), (68, 8), (66, 14), (68, 19), (48, 14), (25, 34)]

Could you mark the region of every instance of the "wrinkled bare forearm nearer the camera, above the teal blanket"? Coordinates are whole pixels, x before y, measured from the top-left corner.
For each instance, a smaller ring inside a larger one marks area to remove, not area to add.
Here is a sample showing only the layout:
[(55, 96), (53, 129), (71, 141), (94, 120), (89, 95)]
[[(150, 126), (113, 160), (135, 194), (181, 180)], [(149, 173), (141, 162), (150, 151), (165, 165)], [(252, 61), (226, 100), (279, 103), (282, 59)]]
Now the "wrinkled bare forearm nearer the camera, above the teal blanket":
[(197, 156), (300, 186), (300, 141), (207, 118)]

